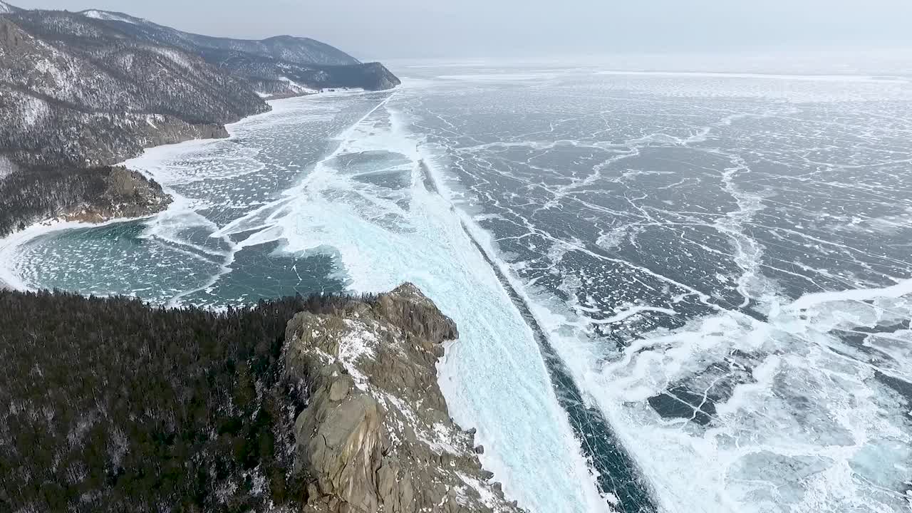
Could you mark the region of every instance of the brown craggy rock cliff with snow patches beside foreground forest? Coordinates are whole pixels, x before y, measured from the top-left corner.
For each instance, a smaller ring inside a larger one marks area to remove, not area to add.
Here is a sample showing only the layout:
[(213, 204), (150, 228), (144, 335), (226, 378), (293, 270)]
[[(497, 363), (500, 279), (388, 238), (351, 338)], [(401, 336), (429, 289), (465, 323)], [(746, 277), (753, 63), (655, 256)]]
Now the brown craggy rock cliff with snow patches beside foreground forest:
[(310, 398), (295, 421), (304, 511), (521, 511), (488, 482), (440, 393), (441, 344), (457, 336), (411, 284), (288, 324), (285, 372)]

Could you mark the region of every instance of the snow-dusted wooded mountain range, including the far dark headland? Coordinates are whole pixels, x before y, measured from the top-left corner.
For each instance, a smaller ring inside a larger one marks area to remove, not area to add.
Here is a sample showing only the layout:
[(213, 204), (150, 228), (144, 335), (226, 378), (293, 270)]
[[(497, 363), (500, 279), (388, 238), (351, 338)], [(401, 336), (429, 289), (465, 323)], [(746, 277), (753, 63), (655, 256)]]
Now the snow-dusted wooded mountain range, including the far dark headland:
[(18, 183), (4, 180), (12, 173), (225, 136), (224, 124), (269, 110), (264, 99), (398, 84), (381, 64), (304, 37), (206, 37), (122, 13), (0, 2), (0, 194), (21, 195), (3, 190)]

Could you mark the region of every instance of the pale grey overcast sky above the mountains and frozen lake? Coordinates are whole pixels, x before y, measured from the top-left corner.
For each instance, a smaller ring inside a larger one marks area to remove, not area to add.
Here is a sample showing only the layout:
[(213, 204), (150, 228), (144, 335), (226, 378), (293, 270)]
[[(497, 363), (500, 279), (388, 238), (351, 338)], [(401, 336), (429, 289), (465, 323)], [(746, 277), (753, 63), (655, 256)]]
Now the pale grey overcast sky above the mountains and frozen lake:
[(912, 0), (10, 0), (213, 36), (314, 37), (355, 57), (504, 58), (912, 47)]

